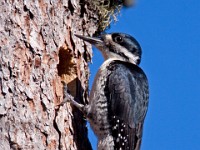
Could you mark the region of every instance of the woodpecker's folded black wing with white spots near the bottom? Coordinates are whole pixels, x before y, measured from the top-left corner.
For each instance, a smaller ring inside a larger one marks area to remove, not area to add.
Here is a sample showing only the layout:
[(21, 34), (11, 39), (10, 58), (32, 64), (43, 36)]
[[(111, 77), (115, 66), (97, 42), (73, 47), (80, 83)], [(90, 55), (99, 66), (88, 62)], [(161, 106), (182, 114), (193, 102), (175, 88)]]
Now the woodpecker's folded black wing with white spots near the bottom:
[(112, 65), (107, 81), (110, 120), (115, 149), (139, 149), (148, 106), (148, 83), (135, 65)]

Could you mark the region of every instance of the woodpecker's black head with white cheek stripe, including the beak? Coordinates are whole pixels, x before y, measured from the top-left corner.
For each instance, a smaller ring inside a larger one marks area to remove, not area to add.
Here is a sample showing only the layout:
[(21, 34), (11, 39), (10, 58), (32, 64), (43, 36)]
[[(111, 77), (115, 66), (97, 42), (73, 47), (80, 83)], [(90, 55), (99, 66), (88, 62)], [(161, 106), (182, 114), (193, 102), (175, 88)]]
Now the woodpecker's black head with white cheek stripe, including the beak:
[(75, 36), (97, 47), (105, 60), (111, 58), (138, 65), (142, 50), (139, 43), (132, 36), (124, 33), (103, 34), (99, 37)]

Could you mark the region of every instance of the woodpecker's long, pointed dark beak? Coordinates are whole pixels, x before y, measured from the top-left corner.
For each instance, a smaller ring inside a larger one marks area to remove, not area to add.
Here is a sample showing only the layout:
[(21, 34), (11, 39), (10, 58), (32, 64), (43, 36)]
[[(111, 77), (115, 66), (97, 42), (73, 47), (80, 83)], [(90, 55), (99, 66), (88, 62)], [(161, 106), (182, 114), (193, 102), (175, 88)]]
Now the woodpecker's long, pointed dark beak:
[(82, 35), (78, 35), (78, 34), (74, 34), (74, 35), (92, 45), (95, 45), (95, 46), (103, 44), (103, 40), (98, 37), (82, 36)]

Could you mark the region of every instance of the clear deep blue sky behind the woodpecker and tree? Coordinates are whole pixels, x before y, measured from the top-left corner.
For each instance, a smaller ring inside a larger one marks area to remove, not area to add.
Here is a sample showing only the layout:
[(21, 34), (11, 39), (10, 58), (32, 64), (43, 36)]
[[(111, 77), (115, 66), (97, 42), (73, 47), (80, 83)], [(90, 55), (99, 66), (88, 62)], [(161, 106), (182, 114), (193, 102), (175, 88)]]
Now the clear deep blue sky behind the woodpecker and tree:
[[(150, 103), (142, 150), (200, 149), (200, 1), (138, 0), (107, 30), (134, 36), (143, 49)], [(93, 48), (90, 86), (103, 58)], [(96, 139), (89, 132), (94, 150)]]

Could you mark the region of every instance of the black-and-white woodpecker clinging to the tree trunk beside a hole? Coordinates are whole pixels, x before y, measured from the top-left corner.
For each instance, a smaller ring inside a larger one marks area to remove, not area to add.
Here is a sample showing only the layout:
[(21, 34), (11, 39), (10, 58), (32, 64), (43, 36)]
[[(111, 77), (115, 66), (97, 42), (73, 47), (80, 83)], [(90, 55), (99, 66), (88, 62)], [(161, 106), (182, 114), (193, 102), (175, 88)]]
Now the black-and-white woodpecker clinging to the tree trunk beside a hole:
[(89, 103), (68, 101), (90, 122), (98, 150), (139, 150), (149, 99), (148, 80), (138, 66), (142, 54), (139, 43), (124, 33), (75, 36), (97, 47), (104, 62), (96, 74)]

